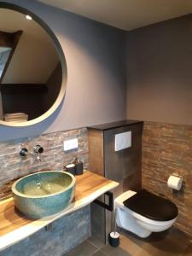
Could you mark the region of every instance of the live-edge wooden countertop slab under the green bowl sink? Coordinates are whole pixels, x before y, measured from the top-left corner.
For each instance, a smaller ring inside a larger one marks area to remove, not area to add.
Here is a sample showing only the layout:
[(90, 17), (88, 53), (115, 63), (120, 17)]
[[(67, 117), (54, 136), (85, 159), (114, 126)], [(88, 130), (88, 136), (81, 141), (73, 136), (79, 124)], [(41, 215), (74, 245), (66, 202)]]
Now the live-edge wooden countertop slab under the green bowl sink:
[(13, 198), (0, 202), (0, 250), (32, 235), (57, 218), (74, 212), (94, 201), (98, 196), (116, 188), (119, 183), (96, 173), (85, 171), (76, 176), (76, 189), (73, 202), (62, 212), (36, 220), (25, 218), (15, 212)]

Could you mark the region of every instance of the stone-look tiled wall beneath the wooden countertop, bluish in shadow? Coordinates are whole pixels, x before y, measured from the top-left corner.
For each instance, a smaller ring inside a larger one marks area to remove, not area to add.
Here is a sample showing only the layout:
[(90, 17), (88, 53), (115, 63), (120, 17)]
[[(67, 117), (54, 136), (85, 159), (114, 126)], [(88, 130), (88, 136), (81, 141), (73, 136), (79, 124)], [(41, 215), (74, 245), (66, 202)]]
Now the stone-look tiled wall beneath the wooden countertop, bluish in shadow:
[[(0, 256), (61, 256), (90, 237), (90, 206), (56, 219), (51, 230), (38, 230), (0, 251)], [(82, 255), (79, 253), (79, 255)]]

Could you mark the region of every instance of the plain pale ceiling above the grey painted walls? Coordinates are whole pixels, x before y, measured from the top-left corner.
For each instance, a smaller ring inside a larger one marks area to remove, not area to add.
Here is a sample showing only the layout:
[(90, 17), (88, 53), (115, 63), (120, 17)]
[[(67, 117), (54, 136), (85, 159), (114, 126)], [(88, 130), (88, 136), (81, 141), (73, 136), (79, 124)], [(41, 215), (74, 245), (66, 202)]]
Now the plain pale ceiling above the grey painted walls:
[(126, 31), (192, 13), (192, 0), (39, 0)]

